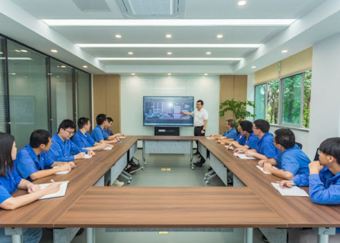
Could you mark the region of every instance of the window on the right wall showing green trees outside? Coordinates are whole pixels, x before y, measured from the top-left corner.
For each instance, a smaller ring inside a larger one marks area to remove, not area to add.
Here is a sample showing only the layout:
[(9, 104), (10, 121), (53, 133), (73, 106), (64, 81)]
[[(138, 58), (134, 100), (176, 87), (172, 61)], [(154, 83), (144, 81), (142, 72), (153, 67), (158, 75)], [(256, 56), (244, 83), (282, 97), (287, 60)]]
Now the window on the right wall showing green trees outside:
[[(265, 118), (271, 124), (309, 128), (311, 76), (312, 71), (307, 70), (255, 86), (256, 119)], [(263, 89), (265, 94), (259, 95)], [(266, 97), (265, 102), (263, 96)], [(265, 109), (263, 104), (267, 104)]]

